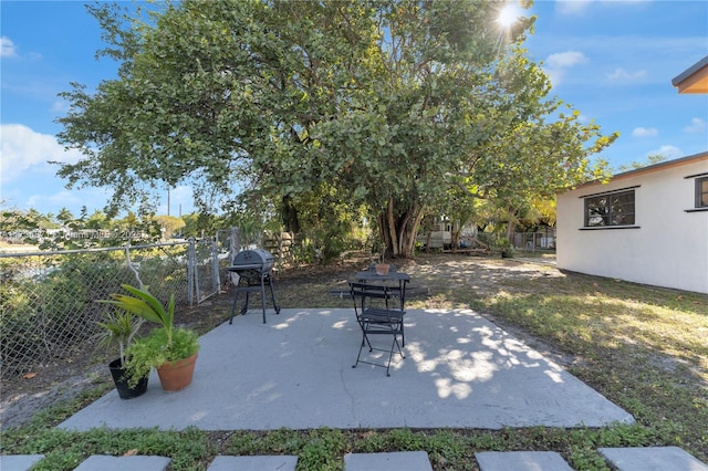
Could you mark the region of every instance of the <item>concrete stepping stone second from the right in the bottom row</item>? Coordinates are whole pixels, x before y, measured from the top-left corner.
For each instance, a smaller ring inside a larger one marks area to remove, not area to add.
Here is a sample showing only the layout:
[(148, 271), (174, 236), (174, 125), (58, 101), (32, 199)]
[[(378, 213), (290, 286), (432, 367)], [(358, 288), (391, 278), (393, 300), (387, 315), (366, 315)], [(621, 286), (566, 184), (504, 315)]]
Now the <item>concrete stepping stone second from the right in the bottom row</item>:
[(480, 451), (475, 458), (481, 471), (573, 471), (555, 451)]

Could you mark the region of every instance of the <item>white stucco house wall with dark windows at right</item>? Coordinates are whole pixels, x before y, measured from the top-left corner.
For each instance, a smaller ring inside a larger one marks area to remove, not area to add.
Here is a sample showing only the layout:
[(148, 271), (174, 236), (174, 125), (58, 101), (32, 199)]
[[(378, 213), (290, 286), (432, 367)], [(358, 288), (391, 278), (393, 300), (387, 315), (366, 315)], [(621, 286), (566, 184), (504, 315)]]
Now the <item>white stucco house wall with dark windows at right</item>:
[[(559, 269), (708, 293), (708, 208), (696, 208), (696, 177), (708, 153), (660, 163), (558, 196)], [(585, 228), (585, 198), (634, 188), (632, 226)]]

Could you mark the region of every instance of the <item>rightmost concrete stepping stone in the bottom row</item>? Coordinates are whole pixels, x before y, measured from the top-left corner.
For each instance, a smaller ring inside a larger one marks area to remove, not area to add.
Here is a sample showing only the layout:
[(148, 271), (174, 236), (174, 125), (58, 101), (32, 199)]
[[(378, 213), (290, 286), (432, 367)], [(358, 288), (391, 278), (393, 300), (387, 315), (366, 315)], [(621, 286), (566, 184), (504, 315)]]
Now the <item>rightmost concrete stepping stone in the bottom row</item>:
[(597, 451), (618, 471), (708, 471), (678, 447), (598, 448)]

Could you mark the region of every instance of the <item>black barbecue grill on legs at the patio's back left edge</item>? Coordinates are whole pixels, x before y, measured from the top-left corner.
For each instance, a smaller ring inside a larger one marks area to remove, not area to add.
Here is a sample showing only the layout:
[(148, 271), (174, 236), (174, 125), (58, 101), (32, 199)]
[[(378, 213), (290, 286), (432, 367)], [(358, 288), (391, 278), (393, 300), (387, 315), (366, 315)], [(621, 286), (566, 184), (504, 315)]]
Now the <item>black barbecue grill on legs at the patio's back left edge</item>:
[(280, 306), (275, 303), (275, 294), (273, 292), (273, 278), (271, 271), (273, 269), (274, 259), (270, 252), (263, 249), (243, 250), (236, 254), (229, 266), (230, 272), (239, 275), (236, 284), (236, 294), (233, 295), (233, 305), (231, 306), (231, 317), (229, 324), (233, 322), (236, 305), (239, 294), (246, 292), (246, 303), (241, 308), (241, 314), (248, 311), (248, 299), (251, 291), (261, 293), (261, 304), (263, 308), (263, 324), (266, 324), (266, 284), (270, 286), (270, 296), (273, 302), (275, 314), (280, 314)]

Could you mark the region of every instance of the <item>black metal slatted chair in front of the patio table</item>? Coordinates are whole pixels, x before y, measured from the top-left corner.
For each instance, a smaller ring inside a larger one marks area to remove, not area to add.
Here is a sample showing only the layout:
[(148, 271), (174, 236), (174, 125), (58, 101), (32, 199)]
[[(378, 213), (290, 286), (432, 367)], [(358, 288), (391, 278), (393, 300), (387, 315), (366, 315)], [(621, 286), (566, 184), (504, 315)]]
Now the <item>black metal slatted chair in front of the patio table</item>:
[[(403, 310), (403, 304), (398, 302), (389, 302), (399, 296), (405, 296), (405, 284), (404, 293), (402, 293), (398, 287), (393, 289), (386, 285), (368, 283), (350, 283), (350, 290), (352, 300), (354, 301), (356, 323), (362, 329), (362, 344), (358, 347), (356, 363), (352, 365), (352, 368), (356, 368), (360, 363), (364, 363), (367, 365), (384, 367), (386, 368), (386, 376), (391, 376), (391, 360), (394, 353), (397, 350), (402, 358), (406, 357), (400, 348), (400, 344), (398, 343), (398, 336), (400, 336), (403, 346), (406, 345), (403, 325), (406, 312)], [(400, 307), (389, 307), (394, 305), (398, 305)], [(369, 338), (372, 335), (391, 336), (391, 348), (373, 347)], [(362, 349), (364, 349), (364, 345), (368, 346), (369, 352), (387, 352), (388, 362), (386, 362), (386, 364), (382, 364), (362, 359)]]

